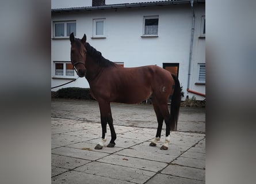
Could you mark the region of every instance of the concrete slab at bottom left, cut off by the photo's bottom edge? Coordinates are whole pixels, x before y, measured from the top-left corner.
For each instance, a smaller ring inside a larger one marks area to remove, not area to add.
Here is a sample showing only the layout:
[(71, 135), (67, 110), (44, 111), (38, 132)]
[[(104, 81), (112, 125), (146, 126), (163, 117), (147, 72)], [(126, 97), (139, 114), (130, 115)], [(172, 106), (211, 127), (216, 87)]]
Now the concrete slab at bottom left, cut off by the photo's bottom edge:
[(52, 178), (52, 184), (131, 184), (131, 182), (121, 181), (119, 179), (112, 179), (107, 177), (101, 177), (98, 175), (81, 173), (78, 171), (68, 171)]

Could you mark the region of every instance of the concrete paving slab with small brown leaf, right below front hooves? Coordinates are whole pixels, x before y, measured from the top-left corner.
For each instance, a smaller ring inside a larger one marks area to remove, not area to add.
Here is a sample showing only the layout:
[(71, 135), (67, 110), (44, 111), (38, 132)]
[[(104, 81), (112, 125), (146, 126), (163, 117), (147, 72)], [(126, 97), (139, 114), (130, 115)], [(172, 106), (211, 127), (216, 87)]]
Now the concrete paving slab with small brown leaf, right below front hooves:
[(167, 164), (163, 162), (132, 158), (129, 156), (116, 155), (116, 154), (109, 155), (109, 156), (106, 156), (105, 158), (99, 159), (98, 162), (111, 163), (119, 166), (139, 168), (142, 170), (154, 171), (154, 172), (162, 170), (167, 166)]

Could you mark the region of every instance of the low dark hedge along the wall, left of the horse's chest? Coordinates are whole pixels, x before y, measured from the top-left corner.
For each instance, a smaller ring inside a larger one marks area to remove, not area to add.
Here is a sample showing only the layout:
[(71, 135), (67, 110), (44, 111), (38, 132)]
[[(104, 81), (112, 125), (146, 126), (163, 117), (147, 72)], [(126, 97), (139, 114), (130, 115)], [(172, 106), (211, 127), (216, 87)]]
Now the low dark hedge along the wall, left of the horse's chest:
[(89, 88), (81, 87), (66, 87), (56, 91), (57, 98), (71, 98), (71, 99), (94, 99), (91, 97)]

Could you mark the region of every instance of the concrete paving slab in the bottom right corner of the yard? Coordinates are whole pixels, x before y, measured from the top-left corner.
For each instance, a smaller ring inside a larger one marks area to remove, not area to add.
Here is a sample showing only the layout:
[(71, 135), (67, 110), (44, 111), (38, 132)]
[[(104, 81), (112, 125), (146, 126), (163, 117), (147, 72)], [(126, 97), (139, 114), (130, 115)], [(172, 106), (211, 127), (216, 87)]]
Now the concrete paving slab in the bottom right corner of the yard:
[(176, 177), (195, 179), (198, 181), (205, 181), (205, 170), (200, 168), (170, 164), (163, 171), (161, 171), (161, 173), (173, 175)]

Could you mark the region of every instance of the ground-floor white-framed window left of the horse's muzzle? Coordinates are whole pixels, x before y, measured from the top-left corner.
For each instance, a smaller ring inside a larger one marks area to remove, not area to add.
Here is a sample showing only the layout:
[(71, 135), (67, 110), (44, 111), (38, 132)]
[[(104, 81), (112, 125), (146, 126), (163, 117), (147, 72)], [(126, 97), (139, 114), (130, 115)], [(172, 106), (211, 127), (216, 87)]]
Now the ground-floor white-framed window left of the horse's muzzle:
[(68, 76), (72, 78), (75, 76), (74, 67), (71, 63), (68, 62), (54, 62), (55, 67), (55, 76), (56, 77), (65, 77)]

